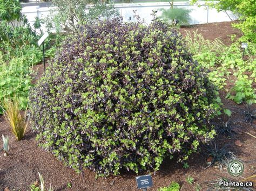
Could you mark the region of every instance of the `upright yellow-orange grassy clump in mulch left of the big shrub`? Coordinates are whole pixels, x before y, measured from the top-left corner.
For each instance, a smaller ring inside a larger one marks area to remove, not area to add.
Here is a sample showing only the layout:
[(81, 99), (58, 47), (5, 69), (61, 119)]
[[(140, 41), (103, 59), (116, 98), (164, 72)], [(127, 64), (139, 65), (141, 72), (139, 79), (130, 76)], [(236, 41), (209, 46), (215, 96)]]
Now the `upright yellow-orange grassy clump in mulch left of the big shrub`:
[(13, 99), (5, 98), (3, 100), (4, 117), (11, 127), (11, 132), (14, 134), (17, 140), (21, 140), (25, 135), (26, 128), (28, 127), (28, 120), (26, 119), (26, 110), (24, 115), (19, 110), (21, 101), (19, 97)]

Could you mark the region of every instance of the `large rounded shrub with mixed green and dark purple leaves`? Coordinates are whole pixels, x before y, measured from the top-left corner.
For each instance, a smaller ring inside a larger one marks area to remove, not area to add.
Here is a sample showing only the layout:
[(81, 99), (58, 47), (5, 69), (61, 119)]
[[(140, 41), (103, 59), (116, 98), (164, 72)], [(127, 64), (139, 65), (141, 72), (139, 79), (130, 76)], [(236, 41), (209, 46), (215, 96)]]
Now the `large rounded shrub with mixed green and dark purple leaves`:
[(213, 138), (215, 89), (181, 35), (160, 22), (80, 26), (30, 93), (41, 145), (80, 171), (159, 169)]

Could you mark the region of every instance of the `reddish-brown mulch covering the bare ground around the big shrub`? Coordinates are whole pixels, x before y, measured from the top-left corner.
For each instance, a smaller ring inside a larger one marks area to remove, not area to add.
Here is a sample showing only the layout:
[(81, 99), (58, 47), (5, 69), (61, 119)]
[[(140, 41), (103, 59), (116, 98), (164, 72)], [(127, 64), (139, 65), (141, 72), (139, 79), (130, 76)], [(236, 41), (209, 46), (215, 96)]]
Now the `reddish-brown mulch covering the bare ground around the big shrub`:
[[(230, 44), (229, 34), (237, 34), (239, 32), (233, 29), (230, 22), (211, 23), (204, 25), (195, 25), (184, 30), (196, 30), (202, 33), (206, 39), (213, 40), (220, 38), (225, 44)], [(43, 65), (35, 66), (38, 68), (39, 75), (43, 73)], [(232, 119), (240, 119), (242, 131), (249, 132), (256, 136), (255, 128), (251, 124), (242, 122), (243, 116), (239, 109), (245, 108), (245, 105), (237, 105), (231, 100), (225, 99), (225, 92), (220, 92), (220, 97), (223, 100), (225, 107), (230, 108), (233, 112)], [(256, 108), (255, 108), (256, 109)], [(256, 124), (255, 124), (256, 125)], [(132, 172), (122, 172), (119, 176), (109, 176), (107, 178), (95, 179), (95, 173), (84, 169), (83, 173), (77, 174), (73, 169), (64, 166), (63, 162), (59, 161), (50, 152), (44, 151), (37, 146), (35, 140), (36, 135), (29, 126), (23, 140), (17, 142), (11, 134), (8, 124), (4, 117), (0, 116), (0, 136), (8, 135), (10, 137), (10, 155), (4, 157), (0, 151), (0, 191), (5, 187), (11, 190), (30, 190), (30, 185), (36, 180), (39, 181), (38, 172), (40, 172), (45, 181), (46, 188), (51, 186), (57, 190), (138, 190), (135, 177), (138, 176)], [(240, 140), (242, 146), (236, 146), (235, 140)], [(244, 161), (256, 160), (256, 139), (252, 136), (239, 132), (238, 137), (231, 139), (220, 137), (217, 142), (221, 144), (230, 144), (230, 149), (237, 154), (238, 158)], [(2, 138), (0, 145), (2, 147)], [(172, 160), (165, 160), (156, 175), (154, 172), (143, 172), (142, 174), (151, 174), (153, 179), (153, 187), (149, 190), (157, 190), (160, 187), (168, 186), (172, 181), (176, 181), (181, 185), (181, 190), (195, 190), (196, 183), (202, 187), (201, 190), (206, 190), (204, 182), (214, 180), (220, 176), (225, 176), (229, 179), (234, 179), (227, 170), (216, 167), (207, 167), (207, 157), (203, 154), (195, 153), (188, 160), (189, 168), (184, 169), (182, 164)], [(256, 172), (256, 162), (245, 163), (245, 172), (237, 178), (242, 180)], [(206, 168), (206, 169), (205, 169)], [(186, 182), (188, 176), (194, 178), (194, 184), (190, 185)], [(71, 183), (71, 188), (68, 188), (68, 183)]]

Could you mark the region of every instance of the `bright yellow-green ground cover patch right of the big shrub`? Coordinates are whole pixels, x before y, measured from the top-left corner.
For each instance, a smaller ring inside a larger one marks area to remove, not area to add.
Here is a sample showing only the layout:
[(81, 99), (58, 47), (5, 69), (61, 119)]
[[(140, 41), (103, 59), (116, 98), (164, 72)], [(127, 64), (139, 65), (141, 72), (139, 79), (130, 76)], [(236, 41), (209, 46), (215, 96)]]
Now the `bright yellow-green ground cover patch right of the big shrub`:
[[(224, 45), (220, 40), (213, 42), (205, 40), (197, 32), (187, 33), (187, 47), (193, 53), (193, 58), (205, 68), (210, 69), (209, 78), (219, 90), (227, 91), (226, 97), (234, 102), (256, 103), (255, 86), (256, 65), (255, 45), (248, 44), (247, 59), (242, 57), (239, 41), (231, 46)], [(235, 76), (232, 88), (226, 88), (226, 81)]]

